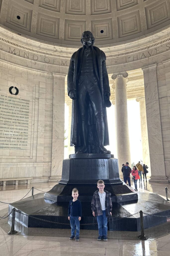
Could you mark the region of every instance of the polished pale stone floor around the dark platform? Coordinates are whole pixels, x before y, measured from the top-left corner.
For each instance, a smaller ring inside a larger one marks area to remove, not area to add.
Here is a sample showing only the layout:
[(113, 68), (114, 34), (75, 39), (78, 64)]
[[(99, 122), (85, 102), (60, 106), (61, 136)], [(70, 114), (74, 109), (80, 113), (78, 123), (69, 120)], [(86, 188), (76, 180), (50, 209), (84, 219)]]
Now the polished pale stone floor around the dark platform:
[[(55, 183), (34, 183), (0, 186), (0, 201), (13, 202), (22, 198), (34, 186), (48, 191)], [(133, 186), (134, 187), (134, 186)], [(142, 182), (138, 191), (158, 194), (166, 198), (165, 187), (170, 191), (170, 184)], [(106, 187), (107, 189), (107, 187)], [(34, 190), (34, 194), (40, 193)], [(27, 195), (31, 196), (31, 192)], [(168, 194), (170, 198), (170, 194)], [(169, 203), (170, 207), (170, 203)], [(0, 203), (0, 216), (6, 216), (8, 204)], [(69, 240), (70, 229), (24, 228), (16, 235), (8, 235), (10, 230), (7, 219), (0, 218), (0, 255), (15, 256), (169, 256), (170, 222), (145, 229), (149, 237), (140, 241), (140, 232), (108, 231), (107, 242), (97, 241), (96, 230), (81, 230), (80, 241)]]

